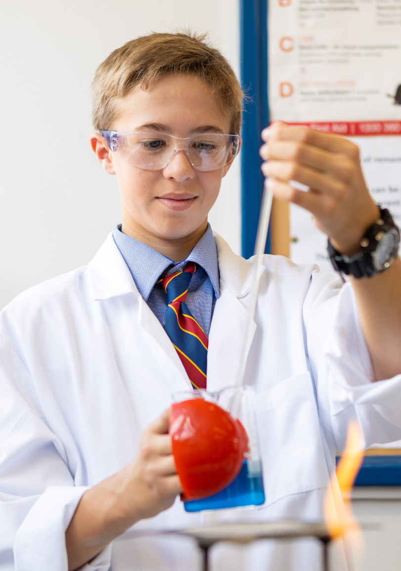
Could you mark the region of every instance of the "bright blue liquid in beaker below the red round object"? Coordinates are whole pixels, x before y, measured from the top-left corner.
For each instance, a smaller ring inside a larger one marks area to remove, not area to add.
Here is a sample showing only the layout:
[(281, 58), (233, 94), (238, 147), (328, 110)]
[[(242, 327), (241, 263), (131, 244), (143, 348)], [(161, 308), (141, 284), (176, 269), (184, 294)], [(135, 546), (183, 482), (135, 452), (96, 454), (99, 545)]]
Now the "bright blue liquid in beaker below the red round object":
[[(258, 463), (260, 466), (260, 463)], [(214, 496), (201, 500), (184, 502), (186, 512), (200, 512), (202, 509), (238, 508), (245, 505), (261, 505), (265, 502), (261, 469), (250, 472), (248, 460), (244, 460), (236, 479)]]

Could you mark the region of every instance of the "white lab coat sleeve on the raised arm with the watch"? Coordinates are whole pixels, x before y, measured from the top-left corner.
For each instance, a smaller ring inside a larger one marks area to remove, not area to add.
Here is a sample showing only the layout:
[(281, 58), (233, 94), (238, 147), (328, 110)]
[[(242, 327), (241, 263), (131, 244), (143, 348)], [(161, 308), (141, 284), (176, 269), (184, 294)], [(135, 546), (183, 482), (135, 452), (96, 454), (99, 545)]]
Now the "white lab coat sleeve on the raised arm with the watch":
[(338, 291), (329, 275), (321, 298), (313, 295), (309, 302), (305, 321), (321, 419), (333, 431), (338, 451), (345, 447), (351, 419), (358, 420), (365, 448), (400, 440), (401, 374), (374, 382), (351, 283)]

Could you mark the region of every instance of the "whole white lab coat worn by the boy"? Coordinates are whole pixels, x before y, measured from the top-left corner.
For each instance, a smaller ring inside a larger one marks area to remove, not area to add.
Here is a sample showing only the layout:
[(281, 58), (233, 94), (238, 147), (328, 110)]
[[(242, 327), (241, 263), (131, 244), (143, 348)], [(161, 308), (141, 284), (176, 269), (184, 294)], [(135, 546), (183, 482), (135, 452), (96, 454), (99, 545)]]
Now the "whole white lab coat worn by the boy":
[[(215, 235), (221, 295), (209, 334), (208, 388), (236, 381), (252, 260)], [(179, 500), (132, 529), (221, 519), (322, 517), (347, 421), (366, 446), (401, 439), (401, 375), (371, 383), (350, 285), (316, 266), (265, 256), (245, 382), (257, 391), (266, 503), (187, 514)], [(88, 488), (135, 454), (142, 429), (191, 389), (112, 236), (87, 267), (19, 295), (0, 317), (0, 569), (66, 571), (64, 530)], [(189, 571), (189, 540), (129, 530), (85, 570)], [(131, 536), (131, 537), (130, 537)], [(313, 540), (217, 546), (221, 571), (318, 568)], [(292, 565), (292, 566), (291, 566)]]

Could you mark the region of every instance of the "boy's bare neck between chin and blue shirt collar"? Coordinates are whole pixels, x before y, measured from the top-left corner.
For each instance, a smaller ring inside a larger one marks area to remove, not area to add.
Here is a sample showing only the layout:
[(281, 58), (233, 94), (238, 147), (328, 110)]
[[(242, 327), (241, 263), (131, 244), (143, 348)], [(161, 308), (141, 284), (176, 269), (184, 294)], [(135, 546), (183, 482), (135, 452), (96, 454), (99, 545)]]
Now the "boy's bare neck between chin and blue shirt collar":
[(173, 262), (181, 262), (192, 252), (193, 248), (205, 234), (207, 227), (208, 219), (206, 218), (199, 228), (196, 228), (196, 230), (191, 232), (191, 234), (184, 236), (183, 238), (168, 240), (150, 234), (145, 231), (144, 228), (135, 223), (124, 223), (123, 216), (121, 232), (130, 236), (130, 238), (134, 238), (135, 240), (146, 244), (150, 248), (153, 248), (153, 250), (156, 250), (156, 252), (159, 252), (166, 258), (173, 260)]

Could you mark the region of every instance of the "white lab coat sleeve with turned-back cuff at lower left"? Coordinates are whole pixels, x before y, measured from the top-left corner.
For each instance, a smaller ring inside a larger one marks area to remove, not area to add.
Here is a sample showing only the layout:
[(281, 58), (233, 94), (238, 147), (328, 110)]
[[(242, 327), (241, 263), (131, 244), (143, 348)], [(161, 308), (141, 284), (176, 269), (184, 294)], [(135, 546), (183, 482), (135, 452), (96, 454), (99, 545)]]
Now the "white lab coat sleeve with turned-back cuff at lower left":
[[(61, 441), (48, 427), (30, 373), (0, 336), (0, 566), (67, 571), (65, 530), (85, 486), (74, 486)], [(110, 548), (83, 569), (110, 567)]]

